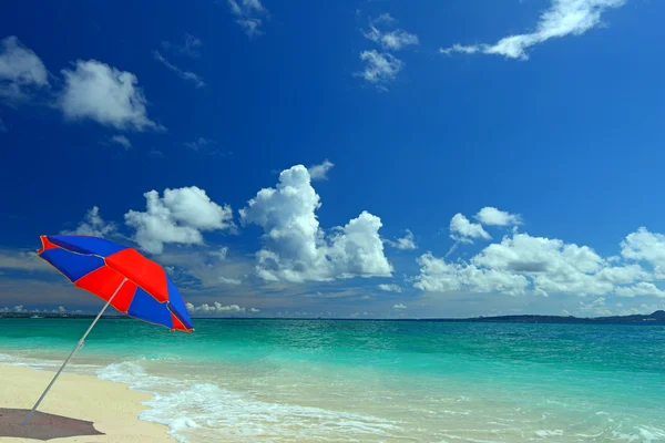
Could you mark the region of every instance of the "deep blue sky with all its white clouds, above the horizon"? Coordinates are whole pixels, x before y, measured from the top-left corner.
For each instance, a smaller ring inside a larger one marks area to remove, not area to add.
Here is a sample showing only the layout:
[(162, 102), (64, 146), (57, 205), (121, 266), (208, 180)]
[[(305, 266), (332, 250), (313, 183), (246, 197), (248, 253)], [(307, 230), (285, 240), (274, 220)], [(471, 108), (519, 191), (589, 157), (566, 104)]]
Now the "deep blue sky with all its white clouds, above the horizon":
[(139, 247), (195, 315), (663, 308), (663, 13), (6, 6), (0, 309), (96, 309), (34, 257), (63, 231)]

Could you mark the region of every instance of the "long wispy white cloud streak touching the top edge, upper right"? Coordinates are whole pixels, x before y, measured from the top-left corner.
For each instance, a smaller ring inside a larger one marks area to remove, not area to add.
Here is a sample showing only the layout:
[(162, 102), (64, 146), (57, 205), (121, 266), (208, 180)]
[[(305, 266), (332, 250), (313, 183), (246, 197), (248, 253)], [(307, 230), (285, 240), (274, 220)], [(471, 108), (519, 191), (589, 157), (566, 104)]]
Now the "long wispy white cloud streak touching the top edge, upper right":
[(566, 35), (581, 35), (602, 24), (601, 17), (610, 8), (618, 8), (625, 0), (552, 0), (534, 32), (509, 35), (495, 44), (461, 45), (441, 49), (441, 53), (452, 52), (499, 54), (508, 59), (529, 59), (526, 50), (550, 39)]

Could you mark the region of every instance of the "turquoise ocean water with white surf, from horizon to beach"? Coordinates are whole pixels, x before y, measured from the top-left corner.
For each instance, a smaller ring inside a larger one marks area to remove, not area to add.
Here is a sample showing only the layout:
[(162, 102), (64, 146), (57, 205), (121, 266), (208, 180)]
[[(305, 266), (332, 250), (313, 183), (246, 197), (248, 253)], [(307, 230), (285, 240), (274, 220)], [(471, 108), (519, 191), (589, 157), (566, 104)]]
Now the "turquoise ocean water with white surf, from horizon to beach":
[[(90, 320), (0, 319), (57, 369)], [(181, 442), (665, 442), (665, 327), (101, 320), (68, 371), (150, 392)]]

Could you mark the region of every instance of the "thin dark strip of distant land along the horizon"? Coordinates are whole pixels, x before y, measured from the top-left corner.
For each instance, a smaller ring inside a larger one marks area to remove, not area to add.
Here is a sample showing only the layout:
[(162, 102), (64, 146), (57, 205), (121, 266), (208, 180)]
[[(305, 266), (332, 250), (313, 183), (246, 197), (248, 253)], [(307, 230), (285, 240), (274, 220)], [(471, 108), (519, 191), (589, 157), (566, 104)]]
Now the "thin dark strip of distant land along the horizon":
[[(83, 313), (47, 313), (47, 312), (0, 312), (0, 318), (62, 318), (62, 319), (93, 319), (95, 315)], [(127, 316), (104, 316), (103, 319), (131, 319)], [(657, 310), (649, 315), (612, 316), (612, 317), (573, 317), (573, 316), (499, 316), (473, 317), (464, 319), (453, 318), (424, 318), (424, 319), (342, 319), (342, 318), (284, 318), (284, 317), (207, 317), (197, 319), (216, 320), (340, 320), (340, 321), (457, 321), (457, 322), (487, 322), (487, 323), (592, 323), (592, 324), (664, 324), (665, 310)]]

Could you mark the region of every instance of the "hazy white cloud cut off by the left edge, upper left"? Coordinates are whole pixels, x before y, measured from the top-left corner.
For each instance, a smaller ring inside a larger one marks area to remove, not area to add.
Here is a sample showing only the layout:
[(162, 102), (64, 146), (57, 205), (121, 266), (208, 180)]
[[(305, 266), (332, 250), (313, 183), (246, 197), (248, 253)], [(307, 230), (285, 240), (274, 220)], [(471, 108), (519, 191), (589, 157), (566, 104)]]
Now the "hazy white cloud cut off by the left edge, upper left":
[(0, 97), (23, 100), (27, 89), (49, 85), (47, 68), (16, 35), (0, 40)]

